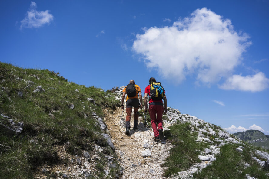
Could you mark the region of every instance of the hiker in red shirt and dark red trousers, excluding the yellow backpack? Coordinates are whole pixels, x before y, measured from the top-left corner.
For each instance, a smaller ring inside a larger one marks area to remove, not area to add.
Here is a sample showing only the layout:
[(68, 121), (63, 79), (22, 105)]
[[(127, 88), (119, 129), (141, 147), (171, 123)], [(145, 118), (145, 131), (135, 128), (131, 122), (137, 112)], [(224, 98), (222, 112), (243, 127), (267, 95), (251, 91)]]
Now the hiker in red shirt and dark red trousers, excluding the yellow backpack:
[[(151, 118), (151, 126), (152, 126), (154, 136), (155, 136), (154, 140), (158, 141), (164, 138), (163, 128), (162, 128), (162, 125), (163, 125), (162, 115), (163, 115), (163, 112), (164, 114), (166, 114), (167, 112), (167, 100), (165, 96), (165, 91), (163, 91), (164, 106), (163, 106), (162, 99), (161, 100), (151, 99), (150, 87), (151, 87), (152, 82), (156, 82), (155, 78), (150, 78), (149, 85), (145, 88), (144, 105), (145, 105), (145, 112), (148, 111)], [(148, 96), (149, 96), (149, 109), (148, 109)]]

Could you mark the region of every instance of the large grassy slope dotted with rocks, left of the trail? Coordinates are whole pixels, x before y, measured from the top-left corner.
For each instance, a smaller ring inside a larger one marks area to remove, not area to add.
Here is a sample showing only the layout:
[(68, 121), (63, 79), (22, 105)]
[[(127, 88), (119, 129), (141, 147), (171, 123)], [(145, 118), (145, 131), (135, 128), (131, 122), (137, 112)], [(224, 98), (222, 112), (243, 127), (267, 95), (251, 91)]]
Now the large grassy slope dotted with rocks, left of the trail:
[[(18, 135), (0, 132), (0, 178), (32, 178), (38, 166), (68, 162), (58, 156), (56, 146), (79, 156), (91, 153), (94, 144), (107, 146), (92, 114), (102, 117), (102, 109), (120, 106), (112, 93), (68, 82), (49, 70), (6, 63), (0, 63), (0, 82), (0, 124), (10, 125), (10, 119), (23, 123)], [(104, 152), (113, 153), (109, 147)], [(106, 161), (97, 162), (103, 166)], [(94, 176), (103, 178), (103, 172), (100, 167)]]

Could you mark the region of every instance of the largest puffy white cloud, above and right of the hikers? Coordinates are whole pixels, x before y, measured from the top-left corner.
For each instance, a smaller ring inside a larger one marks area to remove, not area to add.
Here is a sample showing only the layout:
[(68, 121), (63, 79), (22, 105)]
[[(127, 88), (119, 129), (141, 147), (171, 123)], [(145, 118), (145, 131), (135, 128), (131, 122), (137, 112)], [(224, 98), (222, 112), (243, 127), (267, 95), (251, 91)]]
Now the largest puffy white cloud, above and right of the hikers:
[(248, 38), (234, 31), (231, 20), (202, 8), (172, 26), (137, 34), (133, 50), (167, 79), (180, 83), (194, 74), (198, 82), (213, 83), (229, 76), (240, 63), (251, 44)]

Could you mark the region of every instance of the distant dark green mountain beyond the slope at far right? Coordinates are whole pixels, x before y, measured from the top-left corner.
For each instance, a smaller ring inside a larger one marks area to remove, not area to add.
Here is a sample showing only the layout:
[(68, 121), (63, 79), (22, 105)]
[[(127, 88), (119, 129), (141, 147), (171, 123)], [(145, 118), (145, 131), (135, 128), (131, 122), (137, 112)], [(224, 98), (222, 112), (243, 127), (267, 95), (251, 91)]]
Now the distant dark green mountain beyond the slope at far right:
[(252, 145), (269, 149), (269, 135), (265, 135), (259, 130), (247, 130), (244, 132), (236, 132), (234, 135), (243, 141)]

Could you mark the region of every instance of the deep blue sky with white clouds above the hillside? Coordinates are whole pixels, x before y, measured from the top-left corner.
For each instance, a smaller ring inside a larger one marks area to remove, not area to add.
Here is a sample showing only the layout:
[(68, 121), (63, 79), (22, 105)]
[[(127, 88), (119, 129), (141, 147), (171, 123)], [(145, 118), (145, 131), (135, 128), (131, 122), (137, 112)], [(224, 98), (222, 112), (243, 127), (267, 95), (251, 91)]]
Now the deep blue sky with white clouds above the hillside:
[(0, 60), (85, 86), (160, 81), (168, 106), (269, 134), (269, 1), (0, 1)]

